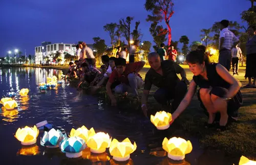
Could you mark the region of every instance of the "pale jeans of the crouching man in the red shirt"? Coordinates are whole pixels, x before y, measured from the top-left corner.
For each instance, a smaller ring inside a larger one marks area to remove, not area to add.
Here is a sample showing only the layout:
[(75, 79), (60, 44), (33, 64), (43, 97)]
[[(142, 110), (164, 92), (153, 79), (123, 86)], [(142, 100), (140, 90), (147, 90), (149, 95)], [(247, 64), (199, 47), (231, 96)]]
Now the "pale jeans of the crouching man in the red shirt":
[(129, 85), (122, 83), (115, 87), (115, 93), (122, 94), (124, 92), (133, 93), (134, 96), (138, 96), (138, 89), (144, 84), (143, 80), (137, 76), (136, 73), (131, 73), (128, 75)]

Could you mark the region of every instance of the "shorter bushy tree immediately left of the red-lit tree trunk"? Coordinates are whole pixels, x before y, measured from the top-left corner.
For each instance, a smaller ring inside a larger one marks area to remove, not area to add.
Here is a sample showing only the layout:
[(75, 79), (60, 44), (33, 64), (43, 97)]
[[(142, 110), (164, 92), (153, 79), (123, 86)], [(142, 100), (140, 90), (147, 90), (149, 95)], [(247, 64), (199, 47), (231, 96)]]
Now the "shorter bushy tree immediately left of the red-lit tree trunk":
[(167, 29), (163, 29), (163, 26), (158, 26), (157, 22), (153, 22), (151, 23), (150, 33), (154, 39), (154, 42), (156, 43), (153, 48), (157, 51), (160, 47), (160, 44), (167, 40)]

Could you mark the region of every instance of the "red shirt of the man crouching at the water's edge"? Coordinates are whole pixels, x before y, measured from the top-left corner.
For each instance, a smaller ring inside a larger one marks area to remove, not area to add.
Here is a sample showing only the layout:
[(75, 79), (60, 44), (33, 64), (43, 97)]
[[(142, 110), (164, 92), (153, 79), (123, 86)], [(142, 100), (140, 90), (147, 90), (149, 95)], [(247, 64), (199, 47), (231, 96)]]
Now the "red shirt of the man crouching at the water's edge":
[[(126, 67), (125, 67), (125, 70), (124, 72), (119, 75), (117, 73), (117, 70), (115, 69), (112, 74), (110, 75), (110, 78), (109, 78), (109, 82), (110, 83), (114, 83), (116, 80), (119, 81), (120, 83), (125, 83), (125, 84), (129, 84), (129, 81), (128, 81), (128, 75), (131, 74), (131, 73), (134, 73), (135, 70), (139, 67), (141, 67), (143, 64), (141, 61), (139, 62), (134, 62), (134, 63), (128, 63), (126, 64)], [(141, 78), (141, 76), (138, 74), (138, 76)]]

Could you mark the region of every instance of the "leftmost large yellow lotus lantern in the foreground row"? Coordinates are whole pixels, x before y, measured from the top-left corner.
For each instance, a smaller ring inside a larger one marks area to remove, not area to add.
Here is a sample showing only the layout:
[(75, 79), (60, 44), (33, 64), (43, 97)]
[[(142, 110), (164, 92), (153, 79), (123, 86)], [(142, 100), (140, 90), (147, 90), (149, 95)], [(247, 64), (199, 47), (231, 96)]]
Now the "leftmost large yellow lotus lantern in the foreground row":
[(22, 142), (22, 145), (29, 146), (36, 143), (36, 137), (38, 136), (39, 130), (36, 128), (36, 126), (25, 128), (18, 128), (18, 130), (15, 133), (15, 137)]

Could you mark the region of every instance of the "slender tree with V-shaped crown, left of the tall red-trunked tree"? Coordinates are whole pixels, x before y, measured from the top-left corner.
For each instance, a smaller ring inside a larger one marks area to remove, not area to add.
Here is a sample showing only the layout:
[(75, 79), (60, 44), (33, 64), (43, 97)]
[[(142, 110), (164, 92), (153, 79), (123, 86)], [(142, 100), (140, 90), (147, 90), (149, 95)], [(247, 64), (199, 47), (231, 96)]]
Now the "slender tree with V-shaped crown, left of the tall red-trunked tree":
[(120, 31), (122, 32), (123, 36), (128, 42), (128, 46), (130, 48), (130, 40), (131, 40), (131, 22), (134, 17), (126, 17), (124, 20), (123, 18), (119, 20), (119, 27)]

